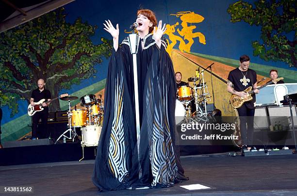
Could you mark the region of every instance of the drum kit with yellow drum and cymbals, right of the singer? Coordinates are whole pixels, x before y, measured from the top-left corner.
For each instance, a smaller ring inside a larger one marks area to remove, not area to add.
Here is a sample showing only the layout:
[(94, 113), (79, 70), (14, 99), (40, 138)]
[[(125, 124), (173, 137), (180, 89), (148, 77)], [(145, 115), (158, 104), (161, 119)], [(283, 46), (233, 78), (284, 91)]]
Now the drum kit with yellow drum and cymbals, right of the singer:
[[(188, 82), (193, 82), (193, 86), (181, 86), (177, 89), (176, 117), (184, 119), (197, 117), (199, 120), (203, 120), (208, 116), (206, 105), (208, 101), (211, 101), (211, 97), (204, 81), (204, 70), (200, 72), (198, 69), (196, 75), (188, 78)], [(182, 120), (176, 119), (176, 123), (179, 124)]]

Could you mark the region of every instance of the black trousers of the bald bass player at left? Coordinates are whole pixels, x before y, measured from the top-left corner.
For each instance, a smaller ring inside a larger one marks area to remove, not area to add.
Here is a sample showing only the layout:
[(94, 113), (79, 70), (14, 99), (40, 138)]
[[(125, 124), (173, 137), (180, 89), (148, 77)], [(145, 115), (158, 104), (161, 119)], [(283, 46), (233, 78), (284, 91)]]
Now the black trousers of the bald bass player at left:
[[(48, 137), (48, 117), (49, 117), (49, 112), (36, 112), (33, 115), (32, 118), (32, 137), (37, 137), (37, 125), (39, 122), (39, 119), (41, 119), (41, 125), (42, 125), (42, 133), (38, 133), (38, 136), (41, 138), (47, 138)], [(39, 129), (41, 130), (41, 129)]]

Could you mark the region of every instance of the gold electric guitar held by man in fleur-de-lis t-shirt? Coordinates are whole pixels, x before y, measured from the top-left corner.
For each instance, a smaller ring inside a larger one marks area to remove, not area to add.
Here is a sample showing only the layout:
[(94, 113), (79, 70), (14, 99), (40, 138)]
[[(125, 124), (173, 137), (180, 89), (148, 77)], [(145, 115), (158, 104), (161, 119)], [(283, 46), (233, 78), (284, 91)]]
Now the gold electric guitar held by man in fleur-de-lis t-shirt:
[[(257, 89), (260, 90), (262, 88), (264, 88), (265, 86), (269, 85), (269, 84), (272, 84), (273, 82), (278, 82), (280, 80), (282, 80), (283, 77), (280, 77), (280, 78), (277, 78), (277, 79), (274, 79), (274, 80), (271, 80), (270, 82), (264, 84), (263, 86), (261, 87), (258, 87)], [(235, 95), (235, 94), (232, 94), (231, 97), (230, 97), (230, 103), (231, 103), (231, 106), (233, 108), (239, 108), (241, 107), (245, 102), (248, 102), (250, 100), (252, 100), (252, 94), (254, 93), (254, 90), (252, 90), (252, 87), (247, 87), (246, 90), (244, 90), (244, 92), (247, 93), (247, 96), (246, 97), (240, 97), (238, 95)]]

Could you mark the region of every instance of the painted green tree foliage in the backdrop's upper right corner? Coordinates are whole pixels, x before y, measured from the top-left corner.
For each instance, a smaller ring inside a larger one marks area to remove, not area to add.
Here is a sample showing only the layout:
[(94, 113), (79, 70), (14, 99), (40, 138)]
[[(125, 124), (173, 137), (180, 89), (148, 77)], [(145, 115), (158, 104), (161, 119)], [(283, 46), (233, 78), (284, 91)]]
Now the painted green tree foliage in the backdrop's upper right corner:
[(297, 67), (296, 0), (257, 0), (255, 6), (245, 1), (231, 4), (228, 13), (231, 22), (245, 21), (261, 26), (261, 39), (252, 42), (254, 56), (266, 61), (281, 60), (290, 67)]

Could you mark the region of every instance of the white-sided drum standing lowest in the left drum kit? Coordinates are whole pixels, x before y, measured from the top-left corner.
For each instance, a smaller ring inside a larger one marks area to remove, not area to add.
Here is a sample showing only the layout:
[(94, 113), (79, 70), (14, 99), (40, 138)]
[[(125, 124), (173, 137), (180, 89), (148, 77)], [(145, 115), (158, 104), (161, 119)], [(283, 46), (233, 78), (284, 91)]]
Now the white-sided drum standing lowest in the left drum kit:
[(82, 146), (98, 146), (101, 129), (98, 125), (82, 127)]

